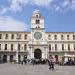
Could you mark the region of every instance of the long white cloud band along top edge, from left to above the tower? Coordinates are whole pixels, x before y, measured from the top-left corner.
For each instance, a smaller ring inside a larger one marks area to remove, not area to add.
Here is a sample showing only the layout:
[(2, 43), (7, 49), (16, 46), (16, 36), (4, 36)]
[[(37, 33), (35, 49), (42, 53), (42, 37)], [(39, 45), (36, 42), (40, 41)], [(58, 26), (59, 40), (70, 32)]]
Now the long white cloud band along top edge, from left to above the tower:
[(53, 2), (53, 0), (9, 0), (9, 7), (2, 7), (1, 13), (4, 14), (7, 11), (13, 11), (15, 13), (21, 12), (22, 8), (27, 4), (49, 7), (51, 2)]

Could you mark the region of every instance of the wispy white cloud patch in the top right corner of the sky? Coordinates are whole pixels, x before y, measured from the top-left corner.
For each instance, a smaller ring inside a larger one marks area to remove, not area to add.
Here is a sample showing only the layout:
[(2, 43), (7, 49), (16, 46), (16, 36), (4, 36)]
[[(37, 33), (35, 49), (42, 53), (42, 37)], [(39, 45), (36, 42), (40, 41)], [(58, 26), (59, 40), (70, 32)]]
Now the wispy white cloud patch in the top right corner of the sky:
[(63, 0), (63, 1), (59, 1), (58, 4), (54, 4), (55, 7), (53, 7), (53, 9), (55, 9), (55, 11), (68, 11), (68, 10), (73, 10), (75, 9), (75, 0)]

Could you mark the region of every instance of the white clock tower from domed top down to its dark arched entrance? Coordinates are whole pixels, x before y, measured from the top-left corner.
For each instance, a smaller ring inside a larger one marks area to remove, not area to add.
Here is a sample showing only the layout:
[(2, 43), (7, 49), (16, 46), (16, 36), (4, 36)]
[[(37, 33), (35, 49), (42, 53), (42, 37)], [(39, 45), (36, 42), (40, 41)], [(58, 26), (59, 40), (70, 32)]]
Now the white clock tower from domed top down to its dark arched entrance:
[(39, 10), (31, 16), (30, 57), (35, 59), (47, 58), (47, 41), (44, 28), (44, 17)]

